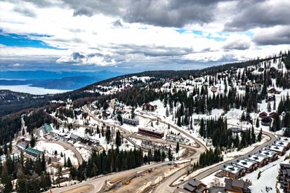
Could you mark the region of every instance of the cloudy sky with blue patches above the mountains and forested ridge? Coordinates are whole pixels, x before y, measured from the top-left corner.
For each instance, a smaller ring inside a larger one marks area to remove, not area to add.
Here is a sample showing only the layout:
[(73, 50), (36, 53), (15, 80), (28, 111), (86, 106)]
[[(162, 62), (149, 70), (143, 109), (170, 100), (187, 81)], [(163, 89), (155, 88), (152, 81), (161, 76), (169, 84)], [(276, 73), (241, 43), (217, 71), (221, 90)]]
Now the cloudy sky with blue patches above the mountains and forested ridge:
[(289, 0), (1, 0), (0, 70), (201, 69), (290, 49)]

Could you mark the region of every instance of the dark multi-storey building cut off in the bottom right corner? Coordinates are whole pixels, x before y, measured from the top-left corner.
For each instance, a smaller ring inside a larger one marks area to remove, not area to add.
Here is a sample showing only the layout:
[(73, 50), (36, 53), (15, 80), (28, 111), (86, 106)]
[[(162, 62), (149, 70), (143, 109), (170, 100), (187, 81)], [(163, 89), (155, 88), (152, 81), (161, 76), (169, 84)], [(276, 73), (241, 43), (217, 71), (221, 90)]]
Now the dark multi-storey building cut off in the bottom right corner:
[(290, 164), (280, 164), (278, 181), (285, 193), (290, 192)]

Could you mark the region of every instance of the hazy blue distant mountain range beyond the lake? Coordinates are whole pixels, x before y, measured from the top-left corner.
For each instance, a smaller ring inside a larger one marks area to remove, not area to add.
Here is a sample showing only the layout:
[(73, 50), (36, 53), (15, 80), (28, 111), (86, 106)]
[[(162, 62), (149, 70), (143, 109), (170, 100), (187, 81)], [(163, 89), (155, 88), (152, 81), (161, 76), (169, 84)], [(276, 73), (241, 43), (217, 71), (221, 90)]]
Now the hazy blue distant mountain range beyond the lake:
[(102, 81), (121, 72), (50, 72), (50, 71), (6, 71), (0, 72), (0, 85), (31, 85), (34, 87), (75, 90), (96, 81)]

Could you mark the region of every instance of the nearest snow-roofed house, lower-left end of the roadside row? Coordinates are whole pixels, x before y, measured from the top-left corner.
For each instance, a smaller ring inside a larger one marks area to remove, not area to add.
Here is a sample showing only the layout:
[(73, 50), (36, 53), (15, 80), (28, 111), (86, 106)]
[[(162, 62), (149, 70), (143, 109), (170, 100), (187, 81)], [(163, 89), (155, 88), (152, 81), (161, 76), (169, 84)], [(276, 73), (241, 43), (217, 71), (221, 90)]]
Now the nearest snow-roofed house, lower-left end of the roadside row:
[(221, 175), (223, 177), (239, 179), (246, 173), (246, 169), (233, 164), (225, 163), (221, 168)]

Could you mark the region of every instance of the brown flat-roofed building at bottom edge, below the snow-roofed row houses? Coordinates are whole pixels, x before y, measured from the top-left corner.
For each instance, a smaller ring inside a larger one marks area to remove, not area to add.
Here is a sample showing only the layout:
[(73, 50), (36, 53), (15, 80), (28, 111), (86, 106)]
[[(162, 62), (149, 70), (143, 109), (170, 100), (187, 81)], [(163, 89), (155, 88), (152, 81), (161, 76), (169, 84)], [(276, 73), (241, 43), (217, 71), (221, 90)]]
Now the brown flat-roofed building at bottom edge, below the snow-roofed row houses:
[(229, 193), (251, 193), (249, 182), (244, 182), (244, 180), (236, 180), (225, 178), (225, 192)]

